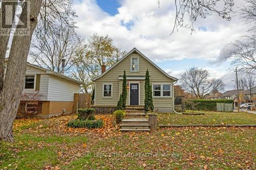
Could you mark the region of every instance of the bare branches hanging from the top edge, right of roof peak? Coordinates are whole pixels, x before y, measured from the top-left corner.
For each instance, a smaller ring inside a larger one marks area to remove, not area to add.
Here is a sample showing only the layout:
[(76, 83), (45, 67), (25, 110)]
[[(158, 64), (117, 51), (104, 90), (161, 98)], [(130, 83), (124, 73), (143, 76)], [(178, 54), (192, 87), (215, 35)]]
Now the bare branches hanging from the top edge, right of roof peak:
[[(160, 7), (160, 0), (158, 0), (158, 6)], [(206, 16), (212, 13), (217, 13), (223, 19), (229, 21), (233, 6), (234, 0), (175, 0), (176, 15), (172, 33), (175, 29), (178, 31), (181, 27), (189, 28), (192, 33), (195, 31), (194, 22), (198, 17), (205, 19)]]

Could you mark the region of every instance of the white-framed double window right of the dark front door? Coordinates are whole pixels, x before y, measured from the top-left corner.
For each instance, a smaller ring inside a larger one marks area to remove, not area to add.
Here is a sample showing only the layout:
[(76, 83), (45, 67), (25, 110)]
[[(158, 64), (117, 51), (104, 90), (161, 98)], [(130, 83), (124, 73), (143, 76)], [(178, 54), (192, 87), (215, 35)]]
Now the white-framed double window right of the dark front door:
[(171, 84), (153, 84), (153, 97), (168, 98), (172, 96)]

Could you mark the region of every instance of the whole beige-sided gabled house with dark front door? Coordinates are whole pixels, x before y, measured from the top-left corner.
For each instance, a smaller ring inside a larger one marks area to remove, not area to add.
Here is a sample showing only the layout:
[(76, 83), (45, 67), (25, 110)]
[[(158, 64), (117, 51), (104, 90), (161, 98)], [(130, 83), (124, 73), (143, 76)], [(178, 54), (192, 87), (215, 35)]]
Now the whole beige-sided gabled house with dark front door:
[(126, 71), (127, 100), (126, 105), (144, 106), (145, 74), (150, 72), (153, 103), (159, 112), (173, 112), (174, 83), (178, 79), (169, 76), (136, 48), (127, 53), (117, 63), (93, 79), (95, 83), (94, 107), (115, 108), (122, 92), (123, 70)]

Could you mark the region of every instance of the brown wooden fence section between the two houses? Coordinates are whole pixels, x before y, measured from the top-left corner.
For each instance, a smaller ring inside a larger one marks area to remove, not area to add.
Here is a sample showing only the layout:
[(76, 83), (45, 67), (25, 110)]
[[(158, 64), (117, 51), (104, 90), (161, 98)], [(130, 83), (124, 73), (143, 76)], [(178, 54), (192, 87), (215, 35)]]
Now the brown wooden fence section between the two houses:
[(78, 109), (91, 108), (91, 94), (88, 93), (75, 93), (74, 94), (74, 112), (77, 113)]

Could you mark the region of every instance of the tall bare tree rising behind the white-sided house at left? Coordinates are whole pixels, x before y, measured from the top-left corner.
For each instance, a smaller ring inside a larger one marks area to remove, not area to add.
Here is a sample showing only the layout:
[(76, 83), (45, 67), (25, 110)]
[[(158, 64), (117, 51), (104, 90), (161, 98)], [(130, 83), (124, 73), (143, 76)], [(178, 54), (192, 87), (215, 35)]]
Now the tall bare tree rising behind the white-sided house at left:
[(81, 44), (74, 30), (74, 17), (72, 1), (44, 0), (30, 50), (34, 63), (61, 72), (61, 60), (65, 59), (65, 71), (71, 68)]

